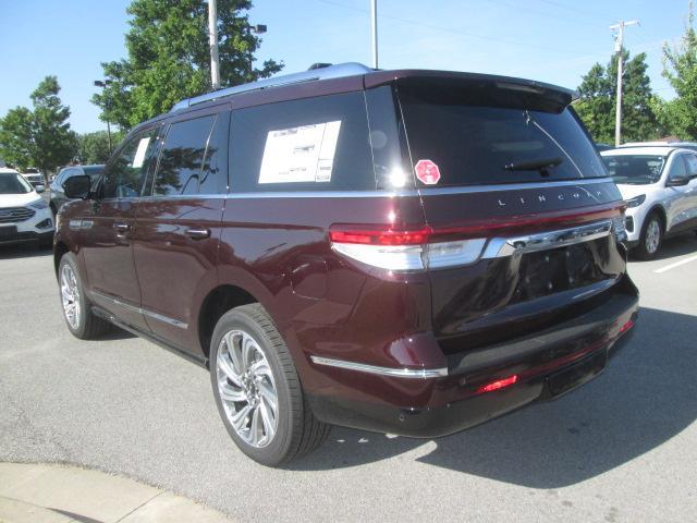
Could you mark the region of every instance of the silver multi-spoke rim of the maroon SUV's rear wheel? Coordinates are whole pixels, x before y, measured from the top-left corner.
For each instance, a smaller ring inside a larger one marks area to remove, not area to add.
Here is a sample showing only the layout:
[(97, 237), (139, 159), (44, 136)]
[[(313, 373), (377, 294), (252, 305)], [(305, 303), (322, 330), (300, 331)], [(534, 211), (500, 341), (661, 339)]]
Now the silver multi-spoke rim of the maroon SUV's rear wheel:
[(269, 362), (243, 330), (227, 332), (216, 361), (218, 392), (228, 421), (249, 446), (266, 447), (278, 427), (279, 401)]

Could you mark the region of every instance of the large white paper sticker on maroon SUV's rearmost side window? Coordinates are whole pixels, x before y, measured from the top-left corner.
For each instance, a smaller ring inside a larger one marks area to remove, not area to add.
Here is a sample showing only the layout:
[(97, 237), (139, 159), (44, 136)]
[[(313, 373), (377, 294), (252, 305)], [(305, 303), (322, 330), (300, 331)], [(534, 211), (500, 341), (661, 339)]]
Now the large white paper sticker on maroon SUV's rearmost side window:
[(259, 183), (330, 182), (341, 120), (269, 131)]

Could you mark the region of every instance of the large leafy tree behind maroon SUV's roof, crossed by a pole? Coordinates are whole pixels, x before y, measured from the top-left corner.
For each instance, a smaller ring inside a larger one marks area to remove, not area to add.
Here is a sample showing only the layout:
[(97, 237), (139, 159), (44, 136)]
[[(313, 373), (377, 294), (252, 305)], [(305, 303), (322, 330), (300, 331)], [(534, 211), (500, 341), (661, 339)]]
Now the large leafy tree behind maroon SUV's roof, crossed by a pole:
[[(221, 86), (269, 76), (283, 66), (253, 65), (261, 40), (252, 33), (249, 0), (218, 0)], [(93, 102), (123, 130), (169, 111), (182, 98), (210, 90), (208, 7), (204, 0), (133, 0), (125, 36), (129, 58), (102, 63), (110, 83)]]

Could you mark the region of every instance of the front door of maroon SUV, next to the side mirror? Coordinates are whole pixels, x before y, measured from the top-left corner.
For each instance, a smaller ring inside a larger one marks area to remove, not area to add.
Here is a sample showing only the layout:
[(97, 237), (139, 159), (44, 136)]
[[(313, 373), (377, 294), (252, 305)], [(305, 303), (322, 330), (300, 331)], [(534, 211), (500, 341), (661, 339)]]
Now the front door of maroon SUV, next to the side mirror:
[[(133, 263), (135, 214), (152, 165), (157, 126), (133, 135), (106, 168), (105, 178), (78, 227), (93, 300), (122, 321), (149, 330), (140, 314), (140, 288)], [(73, 223), (71, 223), (73, 228)]]

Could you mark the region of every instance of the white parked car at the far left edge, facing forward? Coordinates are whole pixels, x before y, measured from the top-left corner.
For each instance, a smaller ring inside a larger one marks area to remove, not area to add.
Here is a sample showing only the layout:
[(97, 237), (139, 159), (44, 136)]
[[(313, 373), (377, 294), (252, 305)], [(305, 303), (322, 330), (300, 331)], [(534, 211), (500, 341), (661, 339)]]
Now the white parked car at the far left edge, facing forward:
[(0, 245), (36, 242), (48, 246), (53, 241), (53, 217), (48, 204), (14, 169), (0, 168)]

